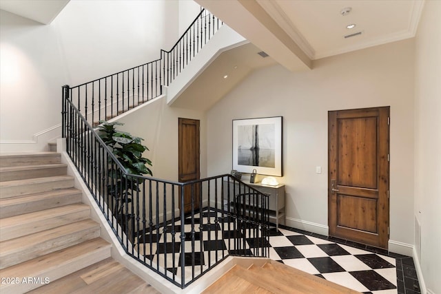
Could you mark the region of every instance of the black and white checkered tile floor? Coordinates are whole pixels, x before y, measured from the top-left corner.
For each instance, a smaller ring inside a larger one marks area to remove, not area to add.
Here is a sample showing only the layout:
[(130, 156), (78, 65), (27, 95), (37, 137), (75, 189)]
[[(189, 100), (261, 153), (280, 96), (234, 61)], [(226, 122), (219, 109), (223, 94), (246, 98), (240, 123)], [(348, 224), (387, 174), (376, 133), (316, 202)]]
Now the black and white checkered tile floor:
[[(210, 224), (208, 223), (210, 220)], [(214, 264), (216, 255), (218, 259), (228, 253), (234, 254), (232, 242), (238, 231), (234, 229), (234, 223), (228, 222), (226, 218), (216, 213), (203, 213), (202, 224), (199, 213), (195, 215), (194, 231), (195, 238), (192, 241), (192, 222), (185, 220), (185, 282), (192, 279), (192, 275), (198, 275), (205, 271), (208, 264)], [(180, 222), (176, 222), (174, 229), (181, 232)], [(223, 225), (223, 230), (220, 226)], [(397, 287), (397, 262), (395, 258), (371, 251), (358, 249), (353, 246), (333, 242), (331, 238), (321, 235), (307, 235), (296, 229), (284, 227), (276, 230), (270, 229), (269, 237), (269, 258), (292, 266), (301, 271), (317, 275), (326, 280), (347, 286), (362, 293), (372, 294), (397, 294), (401, 293)], [(180, 233), (176, 233), (176, 242), (172, 244), (172, 225), (167, 224), (167, 231), (158, 235), (146, 235), (140, 237), (146, 243), (145, 249), (140, 252), (148, 260), (167, 268), (167, 275), (173, 273), (176, 277), (181, 276), (181, 253)], [(254, 234), (256, 231), (247, 231), (245, 250), (248, 253), (254, 250)], [(208, 235), (210, 238), (208, 238)], [(313, 236), (314, 235), (314, 236)], [(159, 238), (158, 244), (156, 240)], [(202, 238), (202, 240), (201, 240)], [(142, 240), (141, 240), (142, 239)], [(149, 240), (154, 242), (151, 246)], [(229, 247), (229, 244), (231, 247)], [(174, 247), (174, 248), (173, 248)], [(195, 267), (192, 268), (192, 247), (195, 254)], [(400, 281), (399, 281), (400, 282)], [(418, 285), (418, 281), (416, 283)], [(404, 292), (403, 292), (404, 293)], [(410, 293), (410, 292), (409, 292)], [(418, 292), (415, 292), (418, 293)]]

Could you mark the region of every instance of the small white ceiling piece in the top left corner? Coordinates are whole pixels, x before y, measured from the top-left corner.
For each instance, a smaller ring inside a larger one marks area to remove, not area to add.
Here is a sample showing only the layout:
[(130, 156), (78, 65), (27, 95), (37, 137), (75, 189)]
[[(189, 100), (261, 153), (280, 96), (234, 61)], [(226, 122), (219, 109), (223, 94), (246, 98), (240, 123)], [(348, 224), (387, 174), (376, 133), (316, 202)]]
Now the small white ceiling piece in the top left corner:
[(0, 9), (50, 24), (70, 0), (0, 0)]

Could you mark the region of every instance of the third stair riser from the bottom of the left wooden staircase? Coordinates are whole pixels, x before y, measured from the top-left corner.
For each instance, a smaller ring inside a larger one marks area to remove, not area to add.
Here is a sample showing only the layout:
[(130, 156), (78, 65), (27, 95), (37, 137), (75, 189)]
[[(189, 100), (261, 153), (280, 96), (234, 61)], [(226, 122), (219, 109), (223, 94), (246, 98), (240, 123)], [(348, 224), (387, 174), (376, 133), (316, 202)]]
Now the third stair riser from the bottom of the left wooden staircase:
[(0, 242), (4, 240), (10, 240), (18, 238), (30, 233), (37, 233), (40, 231), (52, 229), (54, 227), (63, 226), (70, 222), (77, 222), (79, 220), (85, 220), (90, 217), (90, 208), (81, 209), (71, 213), (65, 213), (61, 216), (54, 216), (45, 218), (43, 220), (29, 221), (24, 224), (11, 225), (8, 227), (0, 227)]

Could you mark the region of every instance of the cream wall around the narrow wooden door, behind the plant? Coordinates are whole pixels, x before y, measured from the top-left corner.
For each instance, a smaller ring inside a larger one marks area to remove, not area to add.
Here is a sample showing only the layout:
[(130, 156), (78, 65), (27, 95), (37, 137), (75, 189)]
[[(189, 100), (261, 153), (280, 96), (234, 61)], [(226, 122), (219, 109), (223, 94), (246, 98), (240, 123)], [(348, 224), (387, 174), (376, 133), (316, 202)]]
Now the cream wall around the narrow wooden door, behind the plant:
[[(145, 103), (141, 107), (136, 107), (130, 112), (126, 112), (117, 120), (123, 126), (116, 129), (130, 132), (134, 136), (144, 139), (143, 145), (150, 151), (145, 151), (143, 156), (152, 160), (153, 177), (162, 180), (178, 182), (178, 118), (192, 118), (201, 120), (200, 122), (200, 144), (201, 144), (201, 178), (207, 176), (207, 128), (205, 113), (189, 109), (170, 107), (167, 105), (167, 98), (155, 98), (150, 103)], [(161, 191), (163, 187), (161, 186)], [(175, 187), (175, 189), (177, 189)], [(148, 191), (148, 190), (147, 190)], [(154, 190), (153, 190), (154, 191)], [(175, 213), (178, 211), (178, 191), (175, 190)], [(159, 217), (163, 219), (163, 199), (162, 194), (159, 205)], [(172, 191), (167, 186), (167, 220), (172, 218)], [(153, 207), (156, 207), (156, 200), (152, 200)], [(148, 211), (148, 208), (147, 208)], [(178, 214), (176, 214), (178, 215)], [(175, 215), (175, 216), (176, 216)], [(156, 219), (156, 213), (153, 214)], [(162, 221), (160, 221), (162, 222)]]

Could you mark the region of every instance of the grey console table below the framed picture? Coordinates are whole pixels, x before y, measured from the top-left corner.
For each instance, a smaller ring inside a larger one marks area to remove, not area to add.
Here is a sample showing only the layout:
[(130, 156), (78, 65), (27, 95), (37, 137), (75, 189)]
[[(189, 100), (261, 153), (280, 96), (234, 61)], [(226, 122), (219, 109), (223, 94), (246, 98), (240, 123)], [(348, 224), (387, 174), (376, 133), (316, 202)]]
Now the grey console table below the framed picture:
[[(232, 184), (232, 182), (230, 182), (230, 184)], [(262, 185), (259, 182), (245, 182), (245, 184), (261, 193), (269, 194), (269, 221), (276, 223), (276, 229), (278, 229), (280, 222), (285, 224), (285, 185), (269, 186)], [(236, 186), (234, 187), (234, 191), (232, 191), (233, 186)], [(238, 182), (236, 182), (236, 185), (230, 185), (230, 193), (235, 194), (237, 189)]]

